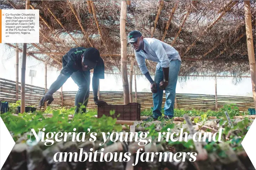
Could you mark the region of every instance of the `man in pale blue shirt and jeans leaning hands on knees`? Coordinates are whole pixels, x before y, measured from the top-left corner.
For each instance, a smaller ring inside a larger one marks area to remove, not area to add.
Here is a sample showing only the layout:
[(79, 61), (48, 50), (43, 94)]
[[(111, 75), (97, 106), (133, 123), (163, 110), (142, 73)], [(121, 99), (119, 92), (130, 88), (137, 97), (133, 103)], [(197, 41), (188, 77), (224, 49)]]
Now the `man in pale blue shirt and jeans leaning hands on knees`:
[[(178, 51), (158, 39), (143, 38), (142, 34), (137, 30), (129, 33), (128, 42), (134, 48), (135, 57), (142, 74), (151, 83), (153, 115), (144, 120), (157, 120), (158, 117), (162, 117), (163, 90), (165, 90), (166, 94), (164, 118), (172, 118), (176, 84), (181, 68), (181, 57)], [(151, 78), (148, 72), (145, 59), (157, 62), (155, 80)]]

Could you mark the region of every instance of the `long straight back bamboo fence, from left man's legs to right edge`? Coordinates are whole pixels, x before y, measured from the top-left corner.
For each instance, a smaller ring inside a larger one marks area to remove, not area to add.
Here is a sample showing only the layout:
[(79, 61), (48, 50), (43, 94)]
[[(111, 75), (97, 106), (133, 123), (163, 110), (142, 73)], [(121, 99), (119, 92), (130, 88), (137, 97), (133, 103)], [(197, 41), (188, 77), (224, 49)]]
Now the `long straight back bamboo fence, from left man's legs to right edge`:
[[(76, 91), (63, 92), (64, 106), (74, 106)], [(135, 102), (135, 93), (133, 93), (133, 102)], [(215, 95), (200, 95), (200, 94), (176, 94), (177, 108), (179, 109), (198, 109), (198, 110), (213, 110), (215, 111)], [(218, 109), (225, 104), (237, 104), (240, 111), (248, 111), (248, 108), (254, 108), (253, 97), (239, 96), (221, 96), (217, 95)], [(165, 102), (165, 94), (163, 94), (163, 104)], [(122, 92), (104, 91), (100, 92), (100, 100), (104, 100), (109, 104), (124, 104), (124, 95)], [(141, 104), (143, 109), (151, 109), (153, 107), (152, 93), (137, 92), (137, 102)], [(174, 108), (176, 104), (174, 104)], [(93, 92), (90, 92), (88, 108), (96, 108), (93, 101)]]

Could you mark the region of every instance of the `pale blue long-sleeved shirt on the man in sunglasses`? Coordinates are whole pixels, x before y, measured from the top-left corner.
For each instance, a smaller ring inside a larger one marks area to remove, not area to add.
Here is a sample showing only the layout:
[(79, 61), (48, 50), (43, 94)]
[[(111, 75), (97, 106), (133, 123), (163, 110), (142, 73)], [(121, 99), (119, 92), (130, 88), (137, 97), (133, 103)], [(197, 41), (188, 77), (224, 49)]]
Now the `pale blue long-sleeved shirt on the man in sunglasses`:
[(135, 57), (142, 74), (148, 72), (145, 59), (157, 62), (156, 67), (158, 69), (160, 66), (162, 68), (169, 67), (171, 60), (178, 59), (181, 61), (178, 51), (175, 50), (171, 45), (155, 38), (144, 38), (143, 40), (144, 51), (146, 53), (143, 50), (140, 50), (139, 52), (134, 50)]

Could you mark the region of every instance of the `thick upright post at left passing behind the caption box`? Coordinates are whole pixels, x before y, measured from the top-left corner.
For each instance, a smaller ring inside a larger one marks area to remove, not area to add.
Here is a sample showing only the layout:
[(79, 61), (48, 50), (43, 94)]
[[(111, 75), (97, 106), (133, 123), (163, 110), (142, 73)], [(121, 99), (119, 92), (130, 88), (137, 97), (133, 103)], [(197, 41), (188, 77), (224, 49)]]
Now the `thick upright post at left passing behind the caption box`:
[[(30, 1), (26, 0), (26, 10), (29, 10)], [(21, 108), (20, 112), (25, 112), (25, 75), (26, 75), (26, 58), (27, 58), (27, 43), (23, 43), (22, 63), (21, 63)]]

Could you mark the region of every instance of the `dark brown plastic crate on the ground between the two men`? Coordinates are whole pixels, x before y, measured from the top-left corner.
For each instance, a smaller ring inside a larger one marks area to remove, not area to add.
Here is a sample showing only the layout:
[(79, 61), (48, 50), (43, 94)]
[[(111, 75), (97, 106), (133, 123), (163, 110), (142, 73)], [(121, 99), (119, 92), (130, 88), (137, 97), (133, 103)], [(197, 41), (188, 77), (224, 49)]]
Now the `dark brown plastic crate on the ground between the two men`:
[[(139, 103), (129, 103), (126, 105), (103, 104), (98, 106), (97, 117), (101, 118), (103, 115), (106, 115), (117, 120), (140, 120), (140, 108), (141, 105)], [(115, 114), (110, 115), (110, 111), (115, 111)], [(117, 117), (118, 115), (119, 117)]]

